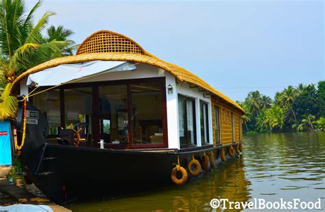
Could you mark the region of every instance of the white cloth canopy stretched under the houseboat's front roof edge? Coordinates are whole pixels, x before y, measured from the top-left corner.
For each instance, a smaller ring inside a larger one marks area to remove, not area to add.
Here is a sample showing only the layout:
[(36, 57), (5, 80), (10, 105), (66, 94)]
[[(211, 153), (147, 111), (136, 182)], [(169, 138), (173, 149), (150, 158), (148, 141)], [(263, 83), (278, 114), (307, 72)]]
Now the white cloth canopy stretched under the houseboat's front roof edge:
[(129, 62), (122, 61), (91, 61), (77, 64), (65, 64), (53, 68), (47, 68), (40, 72), (29, 75), (27, 86), (53, 86), (80, 79), (100, 72), (117, 72), (124, 70), (136, 70), (136, 66)]

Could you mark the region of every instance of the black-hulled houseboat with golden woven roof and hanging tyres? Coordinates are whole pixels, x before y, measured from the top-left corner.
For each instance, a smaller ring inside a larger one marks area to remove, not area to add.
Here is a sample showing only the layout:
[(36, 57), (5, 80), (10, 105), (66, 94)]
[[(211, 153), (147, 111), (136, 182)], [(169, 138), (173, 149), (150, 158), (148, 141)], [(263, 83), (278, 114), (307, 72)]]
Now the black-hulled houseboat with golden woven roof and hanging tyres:
[(182, 185), (242, 151), (237, 103), (113, 31), (27, 70), (11, 94), (22, 167), (57, 203)]

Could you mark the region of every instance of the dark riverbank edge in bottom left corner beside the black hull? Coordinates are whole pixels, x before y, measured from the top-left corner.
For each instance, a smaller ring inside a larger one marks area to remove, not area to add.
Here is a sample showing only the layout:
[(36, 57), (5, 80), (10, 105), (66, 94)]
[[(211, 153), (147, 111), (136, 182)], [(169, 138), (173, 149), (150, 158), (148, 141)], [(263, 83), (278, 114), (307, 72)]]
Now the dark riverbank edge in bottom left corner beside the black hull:
[(34, 204), (34, 205), (47, 205), (56, 212), (69, 212), (58, 204), (55, 204), (47, 198), (40, 198), (25, 189), (10, 183), (7, 178), (0, 178), (0, 204), (9, 206), (11, 204)]

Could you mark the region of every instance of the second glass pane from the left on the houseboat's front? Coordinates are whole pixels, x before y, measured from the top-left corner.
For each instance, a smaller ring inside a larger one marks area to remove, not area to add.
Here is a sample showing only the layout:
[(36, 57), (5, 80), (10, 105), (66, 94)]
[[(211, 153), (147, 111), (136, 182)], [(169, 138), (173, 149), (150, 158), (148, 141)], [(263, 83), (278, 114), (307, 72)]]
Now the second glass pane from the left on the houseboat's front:
[(93, 120), (93, 89), (64, 89), (64, 122), (67, 129), (82, 129), (80, 137), (91, 138)]

